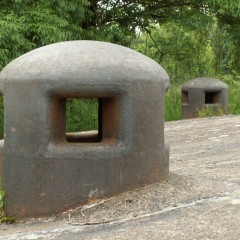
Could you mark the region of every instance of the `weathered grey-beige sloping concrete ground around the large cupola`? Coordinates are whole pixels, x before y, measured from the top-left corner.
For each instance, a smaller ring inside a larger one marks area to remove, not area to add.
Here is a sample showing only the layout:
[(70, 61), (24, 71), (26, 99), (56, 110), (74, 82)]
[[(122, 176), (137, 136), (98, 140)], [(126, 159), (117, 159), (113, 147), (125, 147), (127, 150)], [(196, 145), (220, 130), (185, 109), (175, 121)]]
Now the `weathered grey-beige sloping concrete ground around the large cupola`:
[(0, 239), (239, 239), (240, 117), (165, 125), (170, 179), (52, 219), (0, 225)]

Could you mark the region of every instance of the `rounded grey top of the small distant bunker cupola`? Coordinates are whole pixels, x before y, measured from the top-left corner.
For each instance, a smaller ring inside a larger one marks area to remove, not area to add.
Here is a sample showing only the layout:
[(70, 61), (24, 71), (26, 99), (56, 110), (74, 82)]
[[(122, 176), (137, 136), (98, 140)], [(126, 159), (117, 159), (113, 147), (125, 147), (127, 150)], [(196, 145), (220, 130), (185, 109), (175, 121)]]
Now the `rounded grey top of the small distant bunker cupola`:
[(216, 78), (199, 77), (186, 82), (182, 87), (182, 89), (190, 89), (190, 88), (222, 89), (222, 88), (228, 88), (228, 86), (227, 84), (225, 84), (224, 82)]

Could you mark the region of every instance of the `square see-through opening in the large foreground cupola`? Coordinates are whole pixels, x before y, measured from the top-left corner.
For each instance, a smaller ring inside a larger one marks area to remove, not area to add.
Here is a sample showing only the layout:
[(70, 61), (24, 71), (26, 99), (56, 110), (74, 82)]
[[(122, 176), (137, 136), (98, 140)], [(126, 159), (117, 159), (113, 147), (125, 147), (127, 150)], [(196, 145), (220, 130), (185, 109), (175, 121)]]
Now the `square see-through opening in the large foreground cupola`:
[(67, 142), (102, 142), (115, 137), (116, 99), (67, 98)]

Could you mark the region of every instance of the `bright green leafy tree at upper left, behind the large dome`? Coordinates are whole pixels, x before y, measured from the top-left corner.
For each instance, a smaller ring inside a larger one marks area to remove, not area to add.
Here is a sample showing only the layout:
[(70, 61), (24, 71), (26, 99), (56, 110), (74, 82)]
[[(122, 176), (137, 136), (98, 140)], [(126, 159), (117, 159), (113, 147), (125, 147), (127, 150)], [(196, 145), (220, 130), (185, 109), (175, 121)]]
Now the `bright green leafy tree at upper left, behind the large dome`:
[(49, 43), (83, 38), (87, 0), (0, 1), (0, 69)]

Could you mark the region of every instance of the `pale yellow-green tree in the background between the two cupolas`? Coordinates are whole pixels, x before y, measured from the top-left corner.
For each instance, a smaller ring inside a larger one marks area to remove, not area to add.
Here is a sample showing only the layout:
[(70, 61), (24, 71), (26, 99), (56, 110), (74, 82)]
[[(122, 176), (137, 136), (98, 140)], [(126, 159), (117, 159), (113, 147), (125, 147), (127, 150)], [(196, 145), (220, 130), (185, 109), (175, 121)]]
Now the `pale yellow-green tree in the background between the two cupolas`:
[(159, 62), (173, 83), (183, 83), (213, 72), (214, 54), (209, 34), (200, 33), (174, 21), (168, 22), (142, 33), (132, 47)]

